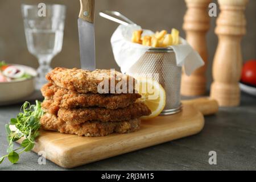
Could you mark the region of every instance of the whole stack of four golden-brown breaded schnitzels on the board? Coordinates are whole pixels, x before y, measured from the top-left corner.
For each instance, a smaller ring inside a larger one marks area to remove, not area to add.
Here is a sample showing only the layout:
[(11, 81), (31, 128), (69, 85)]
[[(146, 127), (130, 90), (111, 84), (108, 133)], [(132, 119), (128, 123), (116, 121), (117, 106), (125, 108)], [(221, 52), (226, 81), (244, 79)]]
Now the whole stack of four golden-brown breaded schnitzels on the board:
[[(140, 117), (151, 114), (138, 101), (141, 95), (134, 92), (135, 79), (117, 71), (55, 68), (46, 78), (49, 82), (41, 89), (46, 114), (40, 123), (44, 130), (86, 137), (130, 133), (139, 129)], [(125, 93), (112, 90), (120, 83)]]

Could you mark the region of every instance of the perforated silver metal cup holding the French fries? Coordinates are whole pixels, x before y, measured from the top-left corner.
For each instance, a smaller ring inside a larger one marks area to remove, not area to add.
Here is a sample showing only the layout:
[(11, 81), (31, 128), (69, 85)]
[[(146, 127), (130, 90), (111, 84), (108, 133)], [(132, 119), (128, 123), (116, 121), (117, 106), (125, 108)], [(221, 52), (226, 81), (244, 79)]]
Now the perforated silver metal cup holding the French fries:
[(159, 75), (159, 83), (166, 90), (166, 106), (162, 115), (181, 111), (181, 67), (177, 67), (175, 53), (171, 48), (151, 48), (127, 71), (130, 75)]

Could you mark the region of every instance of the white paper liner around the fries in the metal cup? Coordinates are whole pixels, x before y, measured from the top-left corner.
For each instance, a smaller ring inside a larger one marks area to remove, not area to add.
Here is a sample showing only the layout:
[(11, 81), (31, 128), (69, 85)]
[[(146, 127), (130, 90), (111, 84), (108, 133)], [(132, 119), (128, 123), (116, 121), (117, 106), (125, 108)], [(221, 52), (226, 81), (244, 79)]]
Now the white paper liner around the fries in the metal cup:
[[(135, 30), (141, 30), (141, 27), (136, 25), (120, 25), (111, 38), (114, 58), (122, 73), (125, 73), (148, 49), (152, 48), (131, 42), (131, 36)], [(154, 32), (150, 30), (143, 30), (142, 36), (152, 34)], [(180, 38), (180, 42), (181, 44), (170, 47), (174, 49), (177, 66), (182, 67), (184, 65), (185, 73), (189, 76), (195, 69), (203, 66), (204, 61), (186, 40)]]

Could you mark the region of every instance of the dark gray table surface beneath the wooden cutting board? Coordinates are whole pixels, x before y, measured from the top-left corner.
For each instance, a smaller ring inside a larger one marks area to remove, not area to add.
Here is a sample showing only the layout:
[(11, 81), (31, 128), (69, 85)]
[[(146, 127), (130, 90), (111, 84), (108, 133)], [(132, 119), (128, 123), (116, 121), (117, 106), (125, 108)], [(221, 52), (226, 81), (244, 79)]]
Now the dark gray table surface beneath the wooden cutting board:
[[(0, 155), (6, 154), (5, 123), (15, 117), (20, 105), (0, 107)], [(17, 147), (18, 144), (15, 144)], [(216, 151), (217, 165), (210, 165), (209, 151)], [(241, 106), (220, 108), (205, 117), (201, 133), (115, 156), (69, 170), (249, 170), (256, 169), (256, 98), (242, 94)], [(28, 152), (18, 164), (5, 160), (0, 170), (67, 170)]]

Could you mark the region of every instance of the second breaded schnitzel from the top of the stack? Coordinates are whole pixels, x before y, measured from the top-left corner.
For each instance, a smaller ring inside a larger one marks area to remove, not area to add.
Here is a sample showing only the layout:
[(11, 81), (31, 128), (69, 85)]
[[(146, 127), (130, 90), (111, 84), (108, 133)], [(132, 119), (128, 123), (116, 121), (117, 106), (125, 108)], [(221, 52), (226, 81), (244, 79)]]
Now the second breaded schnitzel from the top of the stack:
[(56, 114), (59, 108), (75, 107), (106, 107), (107, 109), (117, 109), (133, 104), (141, 95), (132, 94), (81, 94), (74, 90), (60, 88), (54, 84), (48, 83), (41, 89), (46, 100), (43, 107), (47, 107), (49, 113)]

